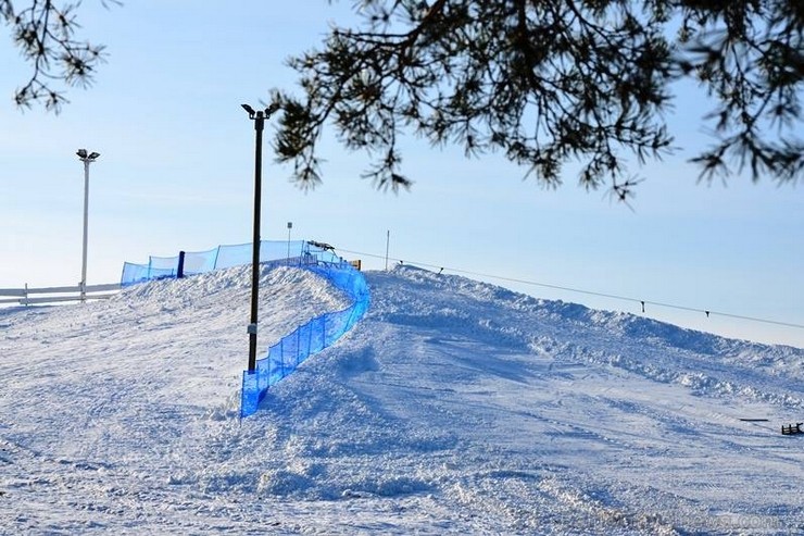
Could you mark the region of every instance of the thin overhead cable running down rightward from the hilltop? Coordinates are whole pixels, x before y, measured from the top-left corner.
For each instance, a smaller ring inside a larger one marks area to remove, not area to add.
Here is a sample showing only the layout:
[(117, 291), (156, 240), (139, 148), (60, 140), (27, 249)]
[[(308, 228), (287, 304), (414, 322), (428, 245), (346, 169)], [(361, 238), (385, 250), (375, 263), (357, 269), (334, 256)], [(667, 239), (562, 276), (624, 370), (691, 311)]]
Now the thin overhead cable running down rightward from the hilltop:
[[(401, 262), (401, 263), (404, 263), (405, 262), (402, 259), (395, 259), (395, 258), (391, 258), (391, 257), (387, 257), (387, 255), (378, 255), (378, 254), (374, 254), (374, 253), (366, 253), (366, 252), (363, 252), (363, 251), (352, 251), (352, 250), (342, 249), (342, 248), (338, 248), (338, 250), (343, 251), (346, 253), (352, 253), (352, 254), (357, 254), (357, 255), (373, 257), (373, 258), (376, 258), (376, 259), (389, 259), (389, 260)], [(774, 324), (774, 325), (778, 325), (778, 326), (795, 327), (795, 328), (799, 328), (799, 329), (804, 329), (804, 325), (803, 324), (794, 324), (792, 322), (782, 322), (782, 321), (778, 321), (778, 320), (761, 319), (761, 317), (757, 317), (757, 316), (746, 316), (746, 315), (743, 315), (743, 314), (734, 314), (734, 313), (728, 313), (728, 312), (723, 312), (723, 311), (714, 311), (712, 309), (700, 309), (700, 308), (693, 308), (693, 307), (687, 307), (687, 306), (679, 306), (679, 304), (676, 304), (676, 303), (666, 303), (666, 302), (662, 302), (662, 301), (641, 300), (641, 299), (631, 298), (631, 297), (628, 297), (628, 296), (619, 296), (619, 295), (607, 294), (607, 292), (598, 292), (598, 291), (594, 291), (594, 290), (586, 290), (586, 289), (580, 289), (580, 288), (567, 287), (567, 286), (563, 286), (563, 285), (553, 285), (553, 284), (550, 284), (550, 283), (540, 283), (540, 282), (535, 282), (535, 281), (520, 279), (520, 278), (516, 278), (516, 277), (507, 277), (507, 276), (504, 276), (504, 275), (487, 274), (487, 273), (482, 273), (482, 272), (473, 272), (473, 271), (468, 271), (468, 270), (462, 270), (462, 269), (450, 267), (450, 266), (441, 266), (441, 265), (430, 264), (430, 263), (419, 262), (419, 261), (410, 261), (410, 262), (412, 264), (416, 265), (416, 266), (438, 269), (438, 270), (440, 270), (439, 273), (441, 273), (444, 270), (447, 270), (449, 272), (453, 272), (453, 273), (456, 273), (456, 274), (473, 275), (473, 276), (476, 276), (476, 277), (488, 277), (488, 278), (504, 281), (504, 282), (508, 282), (508, 283), (518, 283), (518, 284), (522, 284), (522, 285), (531, 285), (531, 286), (537, 286), (537, 287), (542, 287), (542, 288), (550, 288), (550, 289), (554, 289), (554, 290), (563, 290), (563, 291), (566, 291), (566, 292), (575, 292), (575, 294), (581, 294), (581, 295), (587, 295), (587, 296), (595, 296), (595, 297), (600, 297), (600, 298), (608, 298), (608, 299), (620, 300), (620, 301), (629, 301), (629, 302), (633, 302), (633, 303), (640, 304), (641, 308), (642, 308), (642, 312), (645, 312), (645, 306), (655, 306), (655, 307), (662, 307), (662, 308), (667, 308), (667, 309), (676, 309), (676, 310), (679, 310), (679, 311), (689, 311), (689, 312), (695, 312), (695, 313), (704, 313), (704, 314), (706, 314), (707, 317), (709, 317), (711, 315), (717, 315), (717, 316), (725, 316), (725, 317), (729, 317), (729, 319), (739, 319), (739, 320), (744, 320), (744, 321), (750, 321), (750, 322), (761, 322), (761, 323), (764, 323), (764, 324)]]

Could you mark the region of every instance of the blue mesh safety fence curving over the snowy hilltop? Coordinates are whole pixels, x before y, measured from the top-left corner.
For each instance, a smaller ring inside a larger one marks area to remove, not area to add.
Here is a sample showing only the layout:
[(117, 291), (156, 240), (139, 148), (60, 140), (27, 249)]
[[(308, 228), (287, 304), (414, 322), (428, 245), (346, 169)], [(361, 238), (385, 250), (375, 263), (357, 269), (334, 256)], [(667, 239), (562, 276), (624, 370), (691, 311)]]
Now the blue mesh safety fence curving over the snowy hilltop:
[[(209, 251), (184, 253), (184, 265), (179, 269), (181, 254), (176, 257), (150, 257), (147, 264), (126, 262), (123, 265), (121, 285), (127, 286), (165, 277), (201, 274), (252, 262), (252, 245), (218, 246)], [(352, 328), (368, 310), (369, 292), (365, 277), (350, 263), (335, 254), (331, 248), (317, 242), (260, 241), (260, 261), (287, 263), (300, 266), (328, 279), (343, 290), (352, 303), (342, 311), (316, 316), (297, 327), (268, 349), (268, 353), (256, 361), (254, 371), (243, 371), (240, 416), (256, 412), (268, 387), (292, 373), (307, 357), (331, 346)]]

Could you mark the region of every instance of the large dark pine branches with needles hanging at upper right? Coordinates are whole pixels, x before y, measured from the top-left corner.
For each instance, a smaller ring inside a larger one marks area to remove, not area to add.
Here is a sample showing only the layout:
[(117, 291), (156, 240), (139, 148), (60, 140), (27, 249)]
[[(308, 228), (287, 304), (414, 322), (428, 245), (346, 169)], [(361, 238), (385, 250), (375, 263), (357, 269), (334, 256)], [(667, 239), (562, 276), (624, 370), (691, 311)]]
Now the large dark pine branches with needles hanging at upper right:
[(415, 133), (467, 155), (502, 151), (545, 186), (581, 163), (580, 184), (626, 199), (628, 159), (673, 150), (674, 82), (713, 97), (714, 146), (702, 176), (748, 169), (796, 182), (804, 2), (801, 0), (362, 0), (356, 27), (289, 60), (303, 95), (276, 90), (278, 159), (304, 187), (321, 180), (327, 124), (366, 150), (366, 177), (409, 187), (398, 139)]

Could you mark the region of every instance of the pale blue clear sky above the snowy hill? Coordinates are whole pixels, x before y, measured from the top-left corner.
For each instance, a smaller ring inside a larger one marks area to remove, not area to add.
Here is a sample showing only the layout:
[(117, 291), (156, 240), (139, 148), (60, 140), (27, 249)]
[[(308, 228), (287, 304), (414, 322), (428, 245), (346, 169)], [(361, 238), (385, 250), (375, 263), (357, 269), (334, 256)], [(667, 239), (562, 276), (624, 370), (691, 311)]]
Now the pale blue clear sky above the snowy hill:
[[(237, 5), (85, 2), (80, 36), (106, 45), (109, 62), (92, 88), (68, 92), (58, 116), (14, 107), (29, 68), (0, 33), (0, 287), (80, 279), (81, 147), (101, 153), (90, 169), (89, 284), (118, 281), (124, 261), (251, 240), (254, 130), (240, 103), (257, 107), (269, 88), (292, 88), (285, 59), (318, 46), (329, 22), (348, 22), (352, 2)], [(500, 155), (467, 160), (413, 137), (403, 142), (411, 192), (375, 190), (360, 178), (365, 154), (328, 136), (324, 184), (305, 194), (266, 145), (262, 236), (286, 239), (292, 221), (292, 238), (381, 269), (390, 230), (390, 257), (410, 263), (802, 325), (804, 189), (746, 177), (699, 184), (687, 160), (711, 142), (707, 109), (702, 94), (679, 88), (668, 121), (680, 149), (631, 169), (646, 178), (632, 210), (576, 187), (571, 166), (564, 187), (544, 190)], [(641, 314), (636, 301), (472, 276)], [(645, 314), (804, 347), (802, 328), (655, 306)]]

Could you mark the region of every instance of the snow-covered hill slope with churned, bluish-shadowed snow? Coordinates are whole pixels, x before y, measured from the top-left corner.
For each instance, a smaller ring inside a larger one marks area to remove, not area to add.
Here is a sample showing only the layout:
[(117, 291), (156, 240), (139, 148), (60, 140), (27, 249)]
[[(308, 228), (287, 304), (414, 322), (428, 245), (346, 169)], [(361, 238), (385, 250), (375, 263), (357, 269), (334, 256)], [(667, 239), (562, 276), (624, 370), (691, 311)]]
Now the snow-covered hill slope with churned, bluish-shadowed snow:
[(0, 310), (0, 534), (804, 533), (802, 349), (399, 267), (240, 422), (249, 276)]

